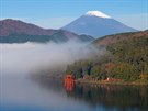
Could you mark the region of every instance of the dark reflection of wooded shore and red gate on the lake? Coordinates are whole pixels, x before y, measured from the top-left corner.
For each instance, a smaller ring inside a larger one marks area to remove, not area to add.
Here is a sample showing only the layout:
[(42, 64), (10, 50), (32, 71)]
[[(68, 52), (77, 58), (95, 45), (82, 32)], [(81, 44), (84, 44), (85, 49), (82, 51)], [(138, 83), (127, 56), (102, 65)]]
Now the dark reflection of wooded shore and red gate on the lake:
[(42, 85), (93, 108), (103, 107), (117, 111), (148, 110), (148, 86), (80, 85), (61, 82), (61, 80), (44, 80)]

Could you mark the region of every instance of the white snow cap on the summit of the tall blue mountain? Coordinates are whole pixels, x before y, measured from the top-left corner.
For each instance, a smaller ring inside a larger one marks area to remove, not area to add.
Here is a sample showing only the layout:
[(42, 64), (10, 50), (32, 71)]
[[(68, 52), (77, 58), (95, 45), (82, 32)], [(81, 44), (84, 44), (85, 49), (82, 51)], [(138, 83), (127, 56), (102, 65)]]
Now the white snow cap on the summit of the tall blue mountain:
[(95, 16), (99, 16), (99, 18), (105, 18), (105, 19), (111, 19), (111, 16), (100, 12), (100, 11), (88, 11), (86, 13), (86, 15), (95, 15)]

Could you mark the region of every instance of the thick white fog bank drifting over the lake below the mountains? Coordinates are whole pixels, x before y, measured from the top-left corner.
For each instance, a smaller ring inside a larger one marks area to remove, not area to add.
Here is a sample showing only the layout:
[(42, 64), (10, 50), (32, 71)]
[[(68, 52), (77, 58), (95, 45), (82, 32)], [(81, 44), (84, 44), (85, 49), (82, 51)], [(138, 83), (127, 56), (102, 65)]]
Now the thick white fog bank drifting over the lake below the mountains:
[(0, 71), (20, 74), (42, 67), (55, 68), (89, 57), (94, 52), (96, 49), (88, 43), (76, 42), (0, 44)]

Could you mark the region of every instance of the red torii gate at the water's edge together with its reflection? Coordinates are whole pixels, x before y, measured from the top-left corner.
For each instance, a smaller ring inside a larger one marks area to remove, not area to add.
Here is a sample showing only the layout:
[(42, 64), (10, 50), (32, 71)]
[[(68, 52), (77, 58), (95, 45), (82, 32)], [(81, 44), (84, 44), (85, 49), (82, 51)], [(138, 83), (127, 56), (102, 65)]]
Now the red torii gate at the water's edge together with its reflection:
[(67, 91), (72, 91), (73, 90), (73, 84), (75, 84), (73, 75), (66, 75), (66, 77), (65, 77), (65, 87), (66, 87)]

